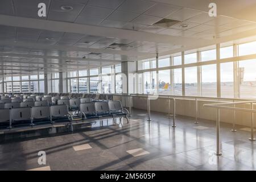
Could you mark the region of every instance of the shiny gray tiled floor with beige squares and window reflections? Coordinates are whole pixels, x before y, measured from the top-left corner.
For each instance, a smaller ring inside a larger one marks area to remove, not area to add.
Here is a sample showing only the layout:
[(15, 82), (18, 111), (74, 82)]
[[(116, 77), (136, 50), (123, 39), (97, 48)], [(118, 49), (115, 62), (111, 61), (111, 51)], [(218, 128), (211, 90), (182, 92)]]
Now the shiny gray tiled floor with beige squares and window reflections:
[[(112, 125), (77, 133), (0, 144), (0, 170), (255, 170), (256, 142), (249, 131), (230, 131), (221, 123), (222, 156), (216, 150), (214, 121), (172, 118), (133, 110), (129, 124)], [(139, 114), (139, 115), (138, 115)], [(104, 124), (106, 125), (106, 121)], [(112, 121), (109, 119), (109, 124)], [(169, 125), (170, 123), (170, 125)], [(38, 152), (46, 152), (46, 165), (38, 164)]]

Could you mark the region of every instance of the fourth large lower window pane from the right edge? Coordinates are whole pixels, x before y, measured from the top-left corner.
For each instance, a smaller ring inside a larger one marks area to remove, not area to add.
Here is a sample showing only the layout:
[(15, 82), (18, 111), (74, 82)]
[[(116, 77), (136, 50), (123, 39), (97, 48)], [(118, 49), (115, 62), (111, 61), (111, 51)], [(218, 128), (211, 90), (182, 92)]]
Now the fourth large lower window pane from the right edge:
[(197, 67), (185, 68), (185, 96), (197, 96)]

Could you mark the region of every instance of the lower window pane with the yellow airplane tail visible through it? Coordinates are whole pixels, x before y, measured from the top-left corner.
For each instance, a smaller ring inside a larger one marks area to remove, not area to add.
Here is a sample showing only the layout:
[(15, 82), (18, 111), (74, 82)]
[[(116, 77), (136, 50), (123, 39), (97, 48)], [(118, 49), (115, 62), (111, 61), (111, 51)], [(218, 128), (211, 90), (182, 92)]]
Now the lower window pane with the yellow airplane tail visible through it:
[(159, 94), (170, 95), (170, 70), (162, 70), (158, 72), (159, 78)]

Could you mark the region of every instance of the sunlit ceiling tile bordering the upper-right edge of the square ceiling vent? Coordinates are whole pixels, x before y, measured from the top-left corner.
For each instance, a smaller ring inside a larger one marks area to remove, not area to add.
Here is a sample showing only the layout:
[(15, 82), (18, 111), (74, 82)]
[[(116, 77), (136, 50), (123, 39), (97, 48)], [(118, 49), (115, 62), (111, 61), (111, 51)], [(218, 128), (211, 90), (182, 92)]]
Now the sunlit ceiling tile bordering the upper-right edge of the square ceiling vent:
[(199, 15), (201, 13), (202, 13), (201, 11), (183, 8), (181, 10), (175, 11), (174, 13), (166, 16), (166, 18), (184, 21), (189, 18), (192, 18), (193, 16)]

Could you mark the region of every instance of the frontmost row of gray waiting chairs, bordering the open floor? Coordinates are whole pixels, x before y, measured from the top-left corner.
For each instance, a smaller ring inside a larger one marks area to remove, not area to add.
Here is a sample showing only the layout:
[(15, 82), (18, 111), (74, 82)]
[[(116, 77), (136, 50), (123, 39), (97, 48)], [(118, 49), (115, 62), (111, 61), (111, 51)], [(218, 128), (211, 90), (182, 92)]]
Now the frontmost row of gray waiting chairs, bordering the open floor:
[[(79, 105), (79, 113), (77, 116), (80, 119), (96, 121), (105, 118), (127, 118), (129, 111), (122, 107), (120, 101), (109, 102), (89, 102)], [(0, 109), (0, 123), (9, 122), (9, 128), (13, 127), (14, 123), (30, 124), (31, 126), (37, 123), (47, 123), (55, 121), (68, 121), (72, 127), (73, 115), (69, 113), (68, 105), (52, 105), (52, 106), (31, 106), (31, 107), (16, 107), (11, 109)], [(63, 120), (64, 118), (64, 120)], [(68, 119), (68, 120), (67, 120)]]

